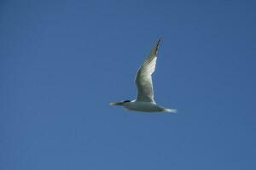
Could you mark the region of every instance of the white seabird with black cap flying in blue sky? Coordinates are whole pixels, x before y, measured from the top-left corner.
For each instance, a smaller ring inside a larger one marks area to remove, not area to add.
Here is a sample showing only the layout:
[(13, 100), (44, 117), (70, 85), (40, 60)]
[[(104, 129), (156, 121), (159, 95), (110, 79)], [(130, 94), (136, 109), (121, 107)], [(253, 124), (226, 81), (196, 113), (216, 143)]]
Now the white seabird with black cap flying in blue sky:
[(167, 109), (161, 105), (157, 105), (154, 101), (154, 88), (152, 82), (152, 74), (155, 70), (157, 53), (160, 46), (161, 38), (154, 43), (154, 47), (143, 61), (143, 64), (137, 70), (135, 82), (137, 85), (137, 98), (133, 100), (123, 100), (119, 102), (111, 102), (109, 105), (121, 105), (128, 111), (143, 112), (170, 112), (175, 113), (175, 109)]

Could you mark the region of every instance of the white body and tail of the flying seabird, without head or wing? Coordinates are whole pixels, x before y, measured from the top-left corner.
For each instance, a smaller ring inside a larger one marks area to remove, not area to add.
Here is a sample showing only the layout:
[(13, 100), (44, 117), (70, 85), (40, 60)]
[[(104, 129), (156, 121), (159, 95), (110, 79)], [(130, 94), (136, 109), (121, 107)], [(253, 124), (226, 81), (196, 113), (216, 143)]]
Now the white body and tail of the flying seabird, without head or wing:
[(156, 112), (156, 111), (166, 111), (166, 112), (176, 112), (176, 110), (166, 109), (160, 105), (156, 105), (153, 102), (143, 102), (143, 101), (131, 101), (123, 105), (125, 109), (131, 111), (146, 111), (146, 112)]

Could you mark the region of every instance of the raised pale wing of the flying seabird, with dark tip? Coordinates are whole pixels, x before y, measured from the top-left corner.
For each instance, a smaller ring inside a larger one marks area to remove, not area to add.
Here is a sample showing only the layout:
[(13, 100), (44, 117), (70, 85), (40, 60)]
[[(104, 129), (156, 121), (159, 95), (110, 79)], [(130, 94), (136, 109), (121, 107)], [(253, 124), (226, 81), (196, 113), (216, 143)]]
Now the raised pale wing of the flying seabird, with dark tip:
[(137, 85), (137, 100), (154, 102), (154, 90), (151, 75), (154, 72), (157, 51), (159, 48), (160, 39), (154, 44), (150, 54), (144, 60), (143, 65), (138, 69), (135, 77)]

